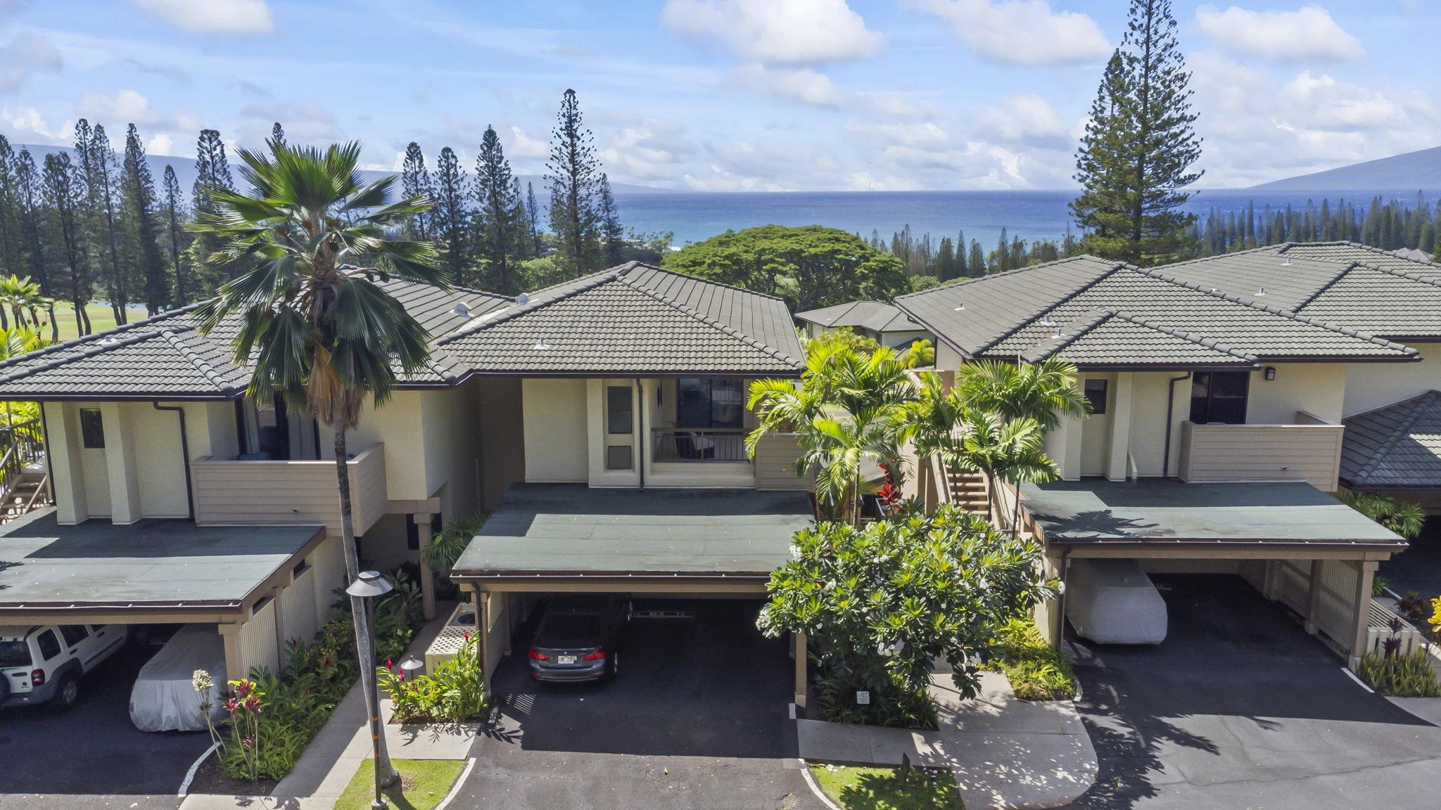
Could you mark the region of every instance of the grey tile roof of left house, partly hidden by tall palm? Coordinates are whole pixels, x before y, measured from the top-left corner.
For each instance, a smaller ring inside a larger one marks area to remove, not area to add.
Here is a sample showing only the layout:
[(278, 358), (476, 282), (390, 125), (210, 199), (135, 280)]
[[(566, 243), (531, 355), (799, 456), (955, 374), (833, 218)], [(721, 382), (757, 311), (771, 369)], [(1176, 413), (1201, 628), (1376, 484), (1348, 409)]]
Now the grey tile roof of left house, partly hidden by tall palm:
[[(388, 293), (427, 327), (445, 334), (471, 319), (460, 316), (467, 304), (471, 317), (503, 307), (510, 298), (478, 290), (442, 291), (391, 280)], [(249, 363), (235, 363), (231, 340), (238, 321), (219, 324), (202, 336), (196, 327), (197, 304), (107, 331), (48, 346), (0, 363), (0, 398), (220, 398), (245, 391)], [(399, 369), (398, 369), (399, 370)], [(442, 353), (427, 368), (405, 378), (405, 385), (444, 385), (464, 369)]]

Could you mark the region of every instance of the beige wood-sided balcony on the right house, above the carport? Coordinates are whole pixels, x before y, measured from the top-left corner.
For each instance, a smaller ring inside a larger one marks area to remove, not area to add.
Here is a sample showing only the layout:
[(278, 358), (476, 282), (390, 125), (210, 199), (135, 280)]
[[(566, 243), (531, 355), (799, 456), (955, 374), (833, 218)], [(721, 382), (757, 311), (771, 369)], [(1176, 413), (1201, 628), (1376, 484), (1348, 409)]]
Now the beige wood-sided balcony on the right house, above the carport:
[(1284, 425), (1183, 422), (1180, 480), (1307, 481), (1336, 491), (1344, 430), (1306, 411)]

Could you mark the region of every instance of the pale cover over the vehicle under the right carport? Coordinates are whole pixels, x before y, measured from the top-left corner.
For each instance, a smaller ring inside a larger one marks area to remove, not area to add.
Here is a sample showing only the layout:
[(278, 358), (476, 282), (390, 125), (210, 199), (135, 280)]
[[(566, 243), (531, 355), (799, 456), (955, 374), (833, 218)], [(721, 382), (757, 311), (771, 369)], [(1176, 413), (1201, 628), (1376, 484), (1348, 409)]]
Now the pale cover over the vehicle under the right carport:
[(1166, 600), (1134, 559), (1075, 559), (1066, 574), (1066, 618), (1101, 644), (1160, 644)]

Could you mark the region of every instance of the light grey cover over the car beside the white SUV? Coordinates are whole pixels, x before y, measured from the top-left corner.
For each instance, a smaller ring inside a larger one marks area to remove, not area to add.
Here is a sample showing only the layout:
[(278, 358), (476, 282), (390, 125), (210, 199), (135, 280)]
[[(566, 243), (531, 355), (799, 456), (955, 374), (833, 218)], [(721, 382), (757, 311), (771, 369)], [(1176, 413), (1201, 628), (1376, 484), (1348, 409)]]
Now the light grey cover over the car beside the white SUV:
[(213, 624), (186, 624), (140, 667), (130, 690), (130, 722), (140, 731), (205, 731), (195, 670), (210, 673), (210, 716), (225, 716), (225, 641)]

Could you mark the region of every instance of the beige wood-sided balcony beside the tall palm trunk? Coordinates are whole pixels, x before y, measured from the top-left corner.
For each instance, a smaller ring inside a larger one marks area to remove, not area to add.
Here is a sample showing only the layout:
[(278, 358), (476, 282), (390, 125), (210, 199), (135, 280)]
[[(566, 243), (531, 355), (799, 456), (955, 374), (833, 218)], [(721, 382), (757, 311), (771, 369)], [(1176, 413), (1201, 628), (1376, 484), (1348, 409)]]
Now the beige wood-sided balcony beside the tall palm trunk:
[[(385, 445), (356, 453), (350, 468), (350, 507), (356, 535), (386, 510)], [(334, 461), (235, 461), (210, 457), (190, 463), (195, 522), (200, 526), (324, 525), (340, 533), (340, 494)]]

